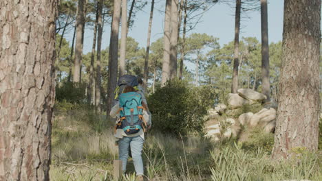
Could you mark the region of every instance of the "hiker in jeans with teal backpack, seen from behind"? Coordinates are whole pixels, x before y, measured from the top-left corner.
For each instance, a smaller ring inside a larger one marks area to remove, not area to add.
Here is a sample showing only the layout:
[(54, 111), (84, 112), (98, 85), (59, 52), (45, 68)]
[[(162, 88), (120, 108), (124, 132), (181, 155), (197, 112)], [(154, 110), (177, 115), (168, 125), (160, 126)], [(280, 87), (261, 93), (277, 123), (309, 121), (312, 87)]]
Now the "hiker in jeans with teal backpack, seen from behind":
[(119, 158), (122, 160), (123, 173), (127, 168), (129, 148), (131, 148), (137, 180), (143, 180), (144, 127), (149, 126), (145, 123), (145, 120), (149, 119), (147, 105), (142, 101), (140, 93), (136, 93), (135, 88), (126, 86), (119, 97), (119, 103), (111, 109), (109, 115), (119, 118), (114, 136), (118, 145)]

